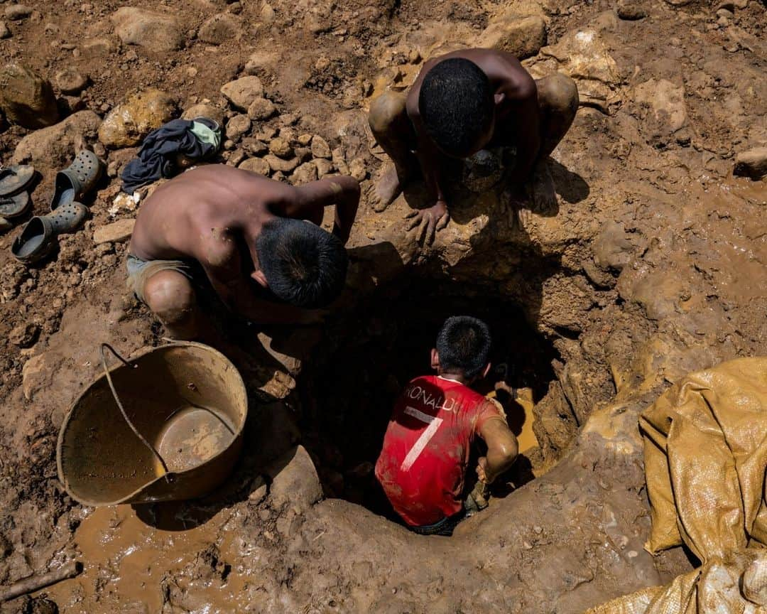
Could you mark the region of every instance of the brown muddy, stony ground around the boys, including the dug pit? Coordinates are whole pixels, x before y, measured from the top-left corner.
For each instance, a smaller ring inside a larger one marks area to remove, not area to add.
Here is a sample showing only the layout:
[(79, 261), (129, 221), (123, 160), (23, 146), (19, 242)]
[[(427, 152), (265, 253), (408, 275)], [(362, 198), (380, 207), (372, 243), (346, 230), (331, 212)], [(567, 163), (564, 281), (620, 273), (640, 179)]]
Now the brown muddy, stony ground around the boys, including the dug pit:
[[(765, 182), (732, 174), (738, 153), (767, 144), (762, 3), (132, 2), (170, 15), (148, 45), (117, 34), (119, 2), (28, 5), (6, 13), (0, 59), (54, 80), (62, 117), (92, 113), (42, 147), (22, 141), (41, 130), (3, 124), (2, 160), (35, 163), (35, 213), (76, 147), (110, 172), (91, 220), (41, 265), (10, 256), (18, 228), (0, 236), (0, 584), (85, 566), (2, 612), (581, 612), (696, 564), (643, 550), (637, 413), (688, 371), (767, 353)], [(263, 157), (277, 134), (295, 147), (320, 135), (331, 170), (365, 191), (382, 160), (371, 96), (406, 86), (438, 48), (497, 43), (507, 15), (545, 23), (532, 74), (563, 71), (581, 91), (550, 164), (555, 215), (520, 228), (498, 187), (456, 185), (453, 222), (426, 247), (404, 229), (417, 190), (384, 213), (364, 196), (349, 289), (326, 326), (268, 331), (271, 353), (258, 327), (230, 332), (260, 366), (243, 368), (251, 418), (224, 487), (177, 506), (71, 500), (56, 438), (98, 373), (97, 345), (130, 355), (163, 336), (124, 288), (126, 243), (94, 243), (137, 209), (114, 201), (135, 150), (104, 147), (100, 120), (147, 87), (176, 115), (205, 103), (229, 119), (241, 113), (220, 87), (255, 74), (277, 113), (222, 160)], [(64, 68), (89, 78), (81, 94), (61, 93)], [(532, 391), (539, 445), (446, 540), (377, 515), (367, 492), (387, 408), (457, 310), (493, 323), (509, 383)]]

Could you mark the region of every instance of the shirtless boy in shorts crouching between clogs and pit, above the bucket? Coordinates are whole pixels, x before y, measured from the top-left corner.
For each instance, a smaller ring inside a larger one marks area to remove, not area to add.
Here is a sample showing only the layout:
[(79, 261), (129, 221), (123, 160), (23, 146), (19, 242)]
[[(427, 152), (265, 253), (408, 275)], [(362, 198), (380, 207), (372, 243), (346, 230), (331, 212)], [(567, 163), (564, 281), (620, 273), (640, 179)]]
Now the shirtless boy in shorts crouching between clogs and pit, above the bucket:
[[(352, 177), (292, 187), (222, 164), (189, 170), (141, 206), (128, 286), (173, 338), (206, 336), (197, 293), (211, 288), (245, 319), (317, 322), (310, 310), (344, 288), (344, 244), (359, 198)], [(320, 227), (329, 205), (336, 206), (332, 234)]]

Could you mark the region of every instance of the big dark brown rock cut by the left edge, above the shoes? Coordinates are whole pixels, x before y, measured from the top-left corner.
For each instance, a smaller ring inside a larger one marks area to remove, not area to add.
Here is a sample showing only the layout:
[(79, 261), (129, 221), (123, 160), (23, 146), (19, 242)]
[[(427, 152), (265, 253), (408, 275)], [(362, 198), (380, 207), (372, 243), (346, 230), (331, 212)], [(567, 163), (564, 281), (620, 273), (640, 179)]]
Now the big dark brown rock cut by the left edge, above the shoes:
[(58, 121), (51, 84), (24, 64), (12, 62), (0, 70), (0, 107), (8, 121), (25, 128), (44, 128)]

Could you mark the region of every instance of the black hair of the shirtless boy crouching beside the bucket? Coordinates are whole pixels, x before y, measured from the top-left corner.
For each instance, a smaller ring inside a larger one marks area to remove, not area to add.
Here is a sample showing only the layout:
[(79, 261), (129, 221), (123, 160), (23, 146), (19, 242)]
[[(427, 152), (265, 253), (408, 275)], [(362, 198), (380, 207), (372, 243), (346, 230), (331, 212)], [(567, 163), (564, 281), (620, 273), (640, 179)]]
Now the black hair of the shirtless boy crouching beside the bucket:
[(265, 223), (255, 251), (269, 289), (291, 305), (323, 307), (344, 289), (344, 244), (311, 222), (281, 217)]

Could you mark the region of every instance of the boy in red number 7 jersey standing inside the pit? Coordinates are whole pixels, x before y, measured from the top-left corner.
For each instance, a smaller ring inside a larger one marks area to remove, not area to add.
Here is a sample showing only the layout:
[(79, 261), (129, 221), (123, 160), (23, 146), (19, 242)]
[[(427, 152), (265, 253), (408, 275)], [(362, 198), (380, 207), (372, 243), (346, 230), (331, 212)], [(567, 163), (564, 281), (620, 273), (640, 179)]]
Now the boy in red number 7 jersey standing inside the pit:
[(517, 456), (517, 439), (499, 409), (469, 388), (489, 369), (489, 328), (460, 315), (446, 320), (431, 351), (437, 375), (416, 378), (394, 407), (376, 477), (407, 526), (450, 535), (463, 518), (463, 490), (474, 437), (487, 444), (477, 476), (486, 484)]

